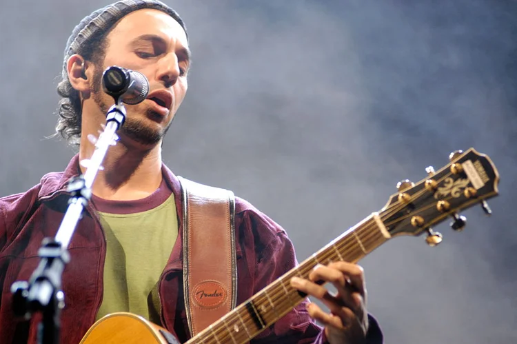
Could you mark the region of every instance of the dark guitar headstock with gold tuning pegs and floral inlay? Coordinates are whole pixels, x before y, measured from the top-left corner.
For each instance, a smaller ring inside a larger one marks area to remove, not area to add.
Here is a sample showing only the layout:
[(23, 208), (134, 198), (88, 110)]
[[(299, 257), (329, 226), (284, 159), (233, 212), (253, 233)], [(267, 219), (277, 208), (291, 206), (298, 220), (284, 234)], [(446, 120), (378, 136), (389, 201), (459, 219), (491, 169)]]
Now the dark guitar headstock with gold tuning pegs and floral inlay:
[(415, 235), (427, 232), (427, 243), (437, 245), (441, 234), (432, 226), (452, 219), (451, 227), (460, 231), (467, 219), (458, 212), (480, 205), (491, 214), (487, 199), (498, 195), (499, 173), (485, 154), (474, 148), (449, 155), (450, 162), (438, 171), (428, 167), (427, 178), (412, 183), (398, 183), (398, 193), (390, 196), (379, 212), (391, 236)]

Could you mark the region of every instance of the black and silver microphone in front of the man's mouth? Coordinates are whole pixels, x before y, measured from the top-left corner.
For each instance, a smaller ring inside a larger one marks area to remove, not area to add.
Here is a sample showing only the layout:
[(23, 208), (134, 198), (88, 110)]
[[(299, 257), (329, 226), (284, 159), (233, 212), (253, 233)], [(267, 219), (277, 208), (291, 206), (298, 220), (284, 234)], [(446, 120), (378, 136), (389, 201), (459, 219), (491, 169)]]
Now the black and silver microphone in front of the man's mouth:
[(141, 103), (149, 94), (149, 81), (145, 75), (116, 65), (103, 72), (102, 87), (110, 96), (130, 105)]

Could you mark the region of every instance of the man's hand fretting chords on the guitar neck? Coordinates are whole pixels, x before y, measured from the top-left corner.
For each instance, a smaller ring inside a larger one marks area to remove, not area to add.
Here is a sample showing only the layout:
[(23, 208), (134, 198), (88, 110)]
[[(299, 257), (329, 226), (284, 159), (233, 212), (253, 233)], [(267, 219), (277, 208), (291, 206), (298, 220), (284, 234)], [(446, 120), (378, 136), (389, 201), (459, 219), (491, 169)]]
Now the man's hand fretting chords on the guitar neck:
[[(316, 281), (332, 283), (337, 294), (331, 294), (323, 285), (314, 283)], [(329, 308), (330, 314), (327, 314), (315, 303), (307, 305), (309, 315), (325, 325), (330, 343), (365, 343), (368, 314), (363, 267), (343, 261), (316, 265), (308, 280), (293, 277), (291, 285)]]

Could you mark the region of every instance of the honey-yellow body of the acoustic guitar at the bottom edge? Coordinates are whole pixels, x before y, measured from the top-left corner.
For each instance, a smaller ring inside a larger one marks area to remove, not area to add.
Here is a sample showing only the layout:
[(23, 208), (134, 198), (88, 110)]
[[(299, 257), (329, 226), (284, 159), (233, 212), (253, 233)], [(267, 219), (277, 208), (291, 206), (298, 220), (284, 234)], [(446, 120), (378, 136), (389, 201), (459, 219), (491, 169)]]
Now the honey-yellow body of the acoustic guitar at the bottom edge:
[(136, 314), (108, 314), (90, 327), (80, 344), (179, 344), (163, 327)]

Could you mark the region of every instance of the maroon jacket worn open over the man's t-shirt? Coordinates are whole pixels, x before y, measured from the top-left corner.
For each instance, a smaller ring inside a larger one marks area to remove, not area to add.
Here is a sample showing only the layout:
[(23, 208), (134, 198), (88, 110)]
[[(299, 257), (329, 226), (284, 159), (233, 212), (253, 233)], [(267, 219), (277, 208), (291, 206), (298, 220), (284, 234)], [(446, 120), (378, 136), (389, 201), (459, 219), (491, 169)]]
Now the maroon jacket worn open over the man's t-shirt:
[[(36, 343), (36, 326), (13, 318), (10, 286), (27, 281), (39, 263), (38, 249), (45, 237), (54, 237), (67, 208), (67, 181), (79, 174), (76, 155), (64, 172), (46, 174), (23, 194), (0, 199), (0, 343)], [(179, 236), (161, 280), (162, 326), (184, 342), (190, 338), (183, 305), (182, 204), (180, 184), (163, 165), (163, 176), (176, 199)], [(239, 281), (237, 304), (269, 285), (296, 265), (296, 256), (285, 231), (250, 203), (236, 198), (236, 254)], [(70, 263), (63, 272), (65, 309), (61, 313), (61, 343), (79, 343), (94, 323), (103, 295), (105, 238), (90, 202), (68, 246)], [(305, 311), (307, 301), (254, 338), (252, 343), (323, 343), (325, 336)], [(374, 318), (370, 318), (368, 343), (382, 343)]]

